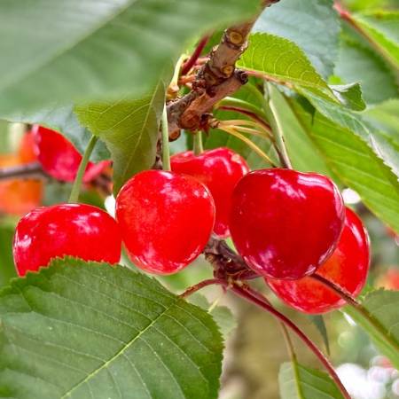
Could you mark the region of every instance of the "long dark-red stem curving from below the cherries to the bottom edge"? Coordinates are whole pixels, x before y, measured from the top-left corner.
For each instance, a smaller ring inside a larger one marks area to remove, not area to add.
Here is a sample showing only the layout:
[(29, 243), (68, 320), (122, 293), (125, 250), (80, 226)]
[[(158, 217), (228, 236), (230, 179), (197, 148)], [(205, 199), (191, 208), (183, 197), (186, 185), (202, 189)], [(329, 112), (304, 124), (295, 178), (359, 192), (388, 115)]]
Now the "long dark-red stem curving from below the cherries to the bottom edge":
[(272, 314), (274, 317), (277, 317), (278, 320), (280, 320), (282, 323), (284, 323), (288, 328), (290, 328), (295, 334), (309, 347), (309, 349), (317, 356), (318, 360), (321, 362), (321, 364), (324, 365), (325, 369), (327, 372), (330, 374), (331, 378), (334, 380), (334, 382), (337, 384), (337, 386), (340, 388), (340, 391), (342, 395), (346, 399), (351, 399), (350, 395), (348, 394), (348, 391), (346, 388), (343, 386), (342, 382), (340, 381), (340, 378), (338, 377), (337, 373), (335, 372), (334, 368), (332, 367), (332, 364), (330, 361), (325, 357), (325, 355), (320, 351), (319, 348), (311, 341), (309, 338), (306, 336), (304, 332), (301, 331), (301, 329), (295, 325), (288, 317), (280, 313), (277, 309), (274, 309), (269, 301), (264, 301), (259, 297), (258, 294), (253, 295), (252, 294), (252, 289), (248, 290), (247, 287), (243, 286), (231, 286), (231, 291), (233, 293), (237, 293), (240, 297), (246, 299), (246, 301), (252, 302), (255, 305), (259, 306), (263, 310), (268, 311), (270, 314)]

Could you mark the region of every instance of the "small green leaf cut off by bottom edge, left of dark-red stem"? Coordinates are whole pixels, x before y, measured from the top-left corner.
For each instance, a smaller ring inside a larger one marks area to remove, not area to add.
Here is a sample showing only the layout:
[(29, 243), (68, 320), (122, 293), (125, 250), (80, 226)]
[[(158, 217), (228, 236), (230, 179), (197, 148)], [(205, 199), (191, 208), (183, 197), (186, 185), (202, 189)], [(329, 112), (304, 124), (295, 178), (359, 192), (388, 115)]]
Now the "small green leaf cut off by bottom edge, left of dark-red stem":
[(343, 399), (340, 390), (325, 372), (297, 363), (294, 367), (292, 363), (281, 364), (278, 373), (281, 399)]

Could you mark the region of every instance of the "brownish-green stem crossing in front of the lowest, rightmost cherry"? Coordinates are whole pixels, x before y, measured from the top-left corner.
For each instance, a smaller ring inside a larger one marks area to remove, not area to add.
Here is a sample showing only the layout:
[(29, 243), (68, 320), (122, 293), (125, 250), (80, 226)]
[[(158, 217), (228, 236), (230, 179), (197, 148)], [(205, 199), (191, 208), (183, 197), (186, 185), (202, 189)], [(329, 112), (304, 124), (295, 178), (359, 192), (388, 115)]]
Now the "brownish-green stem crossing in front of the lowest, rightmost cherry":
[(310, 278), (313, 278), (314, 280), (317, 280), (319, 283), (323, 284), (330, 290), (332, 290), (334, 293), (340, 296), (344, 301), (348, 303), (349, 306), (351, 306), (353, 309), (356, 309), (356, 311), (362, 315), (374, 328), (381, 337), (383, 337), (384, 340), (387, 340), (396, 350), (399, 350), (399, 346), (397, 345), (397, 342), (392, 339), (391, 335), (387, 333), (386, 329), (383, 327), (383, 325), (379, 324), (379, 321), (372, 317), (372, 314), (364, 308), (364, 306), (359, 302), (356, 301), (356, 298), (354, 298), (351, 293), (348, 293), (348, 291), (341, 286), (338, 286), (334, 282), (328, 280), (327, 278), (324, 278), (323, 276), (320, 276), (319, 274), (315, 273), (309, 276)]

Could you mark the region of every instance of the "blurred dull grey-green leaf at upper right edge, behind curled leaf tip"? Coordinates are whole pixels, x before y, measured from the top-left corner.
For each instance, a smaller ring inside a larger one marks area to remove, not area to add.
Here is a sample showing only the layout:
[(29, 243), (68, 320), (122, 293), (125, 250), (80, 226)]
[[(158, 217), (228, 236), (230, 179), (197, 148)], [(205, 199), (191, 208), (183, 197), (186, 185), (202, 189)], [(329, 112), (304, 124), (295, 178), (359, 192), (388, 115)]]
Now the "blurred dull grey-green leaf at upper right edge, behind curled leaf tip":
[(399, 95), (394, 74), (379, 55), (361, 43), (342, 37), (335, 74), (343, 82), (360, 82), (364, 100), (376, 104)]

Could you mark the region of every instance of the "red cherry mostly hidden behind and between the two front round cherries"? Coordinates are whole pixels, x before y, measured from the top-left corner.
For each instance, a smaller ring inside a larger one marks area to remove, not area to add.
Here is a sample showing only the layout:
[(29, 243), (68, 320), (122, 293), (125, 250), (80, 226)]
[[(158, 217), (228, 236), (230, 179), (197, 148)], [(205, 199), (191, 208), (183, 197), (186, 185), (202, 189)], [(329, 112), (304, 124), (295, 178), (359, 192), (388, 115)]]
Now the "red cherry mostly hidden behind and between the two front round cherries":
[(249, 172), (246, 160), (229, 148), (216, 148), (200, 155), (177, 153), (170, 161), (174, 172), (196, 177), (207, 186), (215, 200), (215, 234), (228, 237), (231, 195), (239, 179)]

